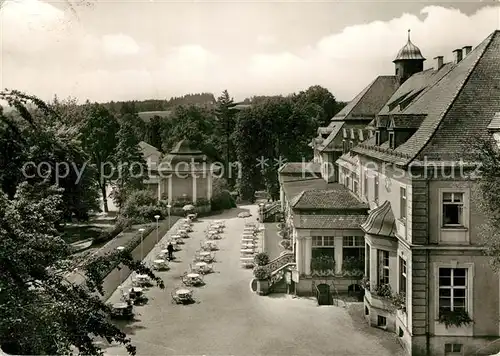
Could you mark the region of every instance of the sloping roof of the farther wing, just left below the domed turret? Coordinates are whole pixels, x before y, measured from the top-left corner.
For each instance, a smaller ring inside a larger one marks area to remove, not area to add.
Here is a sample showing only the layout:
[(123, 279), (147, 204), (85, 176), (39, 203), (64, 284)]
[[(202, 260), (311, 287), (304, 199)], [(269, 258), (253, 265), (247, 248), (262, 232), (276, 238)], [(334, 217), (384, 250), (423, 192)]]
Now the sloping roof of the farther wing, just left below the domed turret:
[(374, 118), (394, 94), (398, 86), (399, 82), (394, 75), (377, 77), (340, 110), (332, 120), (369, 120)]

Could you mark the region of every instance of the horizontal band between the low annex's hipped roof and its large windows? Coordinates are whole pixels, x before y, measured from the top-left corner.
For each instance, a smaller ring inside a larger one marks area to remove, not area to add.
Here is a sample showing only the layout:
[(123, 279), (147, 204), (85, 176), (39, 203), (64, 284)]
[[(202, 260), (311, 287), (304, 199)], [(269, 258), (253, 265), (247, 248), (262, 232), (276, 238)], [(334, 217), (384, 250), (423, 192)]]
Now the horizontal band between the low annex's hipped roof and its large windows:
[(359, 229), (366, 220), (364, 214), (352, 215), (297, 215), (294, 227), (298, 229)]

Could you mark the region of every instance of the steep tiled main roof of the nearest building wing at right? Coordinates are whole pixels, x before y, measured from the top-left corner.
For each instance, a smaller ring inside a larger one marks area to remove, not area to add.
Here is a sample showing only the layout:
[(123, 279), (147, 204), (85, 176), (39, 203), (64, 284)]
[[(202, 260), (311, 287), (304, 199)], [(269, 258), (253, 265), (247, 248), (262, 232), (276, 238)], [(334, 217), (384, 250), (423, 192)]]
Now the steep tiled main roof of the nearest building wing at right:
[[(356, 146), (353, 151), (376, 159), (403, 166), (411, 161), (453, 161), (469, 157), (470, 143), (477, 136), (487, 134), (493, 115), (500, 111), (500, 31), (493, 32), (457, 64), (447, 64), (439, 71), (414, 75), (426, 77), (420, 88), (424, 90), (398, 113), (426, 115), (419, 129), (395, 150), (374, 148), (374, 139)], [(401, 94), (406, 82), (400, 88)], [(414, 88), (415, 89), (415, 88)], [(398, 90), (398, 92), (400, 91)], [(396, 93), (398, 94), (398, 93)], [(392, 99), (392, 98), (391, 98)], [(390, 113), (384, 111), (380, 114)]]

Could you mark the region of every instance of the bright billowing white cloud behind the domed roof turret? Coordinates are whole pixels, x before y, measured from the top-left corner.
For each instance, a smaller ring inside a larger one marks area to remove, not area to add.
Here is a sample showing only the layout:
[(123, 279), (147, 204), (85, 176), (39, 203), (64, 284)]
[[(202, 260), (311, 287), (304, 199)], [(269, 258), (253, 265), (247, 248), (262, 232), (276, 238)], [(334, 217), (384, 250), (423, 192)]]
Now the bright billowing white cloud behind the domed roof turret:
[[(392, 60), (405, 44), (408, 29), (412, 42), (428, 59), (426, 67), (432, 67), (432, 58), (443, 55), (451, 60), (455, 48), (476, 46), (498, 28), (500, 21), (498, 6), (483, 8), (471, 16), (438, 6), (425, 7), (421, 13), (423, 20), (403, 14), (387, 22), (349, 26), (298, 53), (256, 54), (250, 59), (249, 73), (254, 85), (271, 79), (274, 83), (296, 84), (297, 89), (320, 84), (336, 97), (350, 100), (377, 75), (394, 73)], [(269, 94), (277, 92), (272, 85), (267, 89)]]

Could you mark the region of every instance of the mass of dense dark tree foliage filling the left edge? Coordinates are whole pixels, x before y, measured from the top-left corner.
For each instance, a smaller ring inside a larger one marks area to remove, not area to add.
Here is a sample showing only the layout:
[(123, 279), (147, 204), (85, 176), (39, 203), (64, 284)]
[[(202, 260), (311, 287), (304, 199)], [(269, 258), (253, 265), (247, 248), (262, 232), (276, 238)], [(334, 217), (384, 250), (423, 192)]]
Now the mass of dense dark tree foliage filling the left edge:
[[(78, 126), (65, 124), (68, 118), (73, 125), (82, 123), (86, 117), (79, 115), (86, 111), (74, 110), (71, 103), (49, 107), (19, 92), (2, 92), (0, 98), (17, 109), (13, 115), (2, 113), (0, 126), (1, 144), (14, 154), (4, 151), (0, 155), (4, 168), (4, 192), (0, 193), (0, 347), (16, 355), (73, 351), (100, 355), (95, 337), (102, 337), (135, 354), (135, 347), (111, 322), (110, 308), (100, 298), (103, 271), (123, 263), (149, 275), (160, 287), (164, 287), (163, 282), (142, 262), (134, 261), (128, 251), (79, 261), (78, 272), (72, 249), (59, 231), (65, 217), (85, 214), (96, 202), (95, 170), (88, 168), (82, 174), (58, 170), (58, 163), (78, 166), (88, 159)], [(35, 168), (31, 165), (23, 174), (26, 162), (33, 162)], [(37, 172), (41, 162), (46, 165)]]

